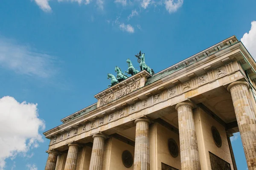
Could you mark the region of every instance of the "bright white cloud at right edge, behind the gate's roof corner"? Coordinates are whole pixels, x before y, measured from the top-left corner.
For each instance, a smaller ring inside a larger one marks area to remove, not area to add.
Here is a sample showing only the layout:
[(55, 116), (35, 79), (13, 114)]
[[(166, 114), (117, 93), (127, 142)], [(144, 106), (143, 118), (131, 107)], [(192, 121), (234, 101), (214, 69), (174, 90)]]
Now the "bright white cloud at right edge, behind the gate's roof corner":
[(250, 31), (244, 34), (241, 38), (241, 42), (243, 42), (244, 46), (256, 60), (256, 21), (251, 22)]

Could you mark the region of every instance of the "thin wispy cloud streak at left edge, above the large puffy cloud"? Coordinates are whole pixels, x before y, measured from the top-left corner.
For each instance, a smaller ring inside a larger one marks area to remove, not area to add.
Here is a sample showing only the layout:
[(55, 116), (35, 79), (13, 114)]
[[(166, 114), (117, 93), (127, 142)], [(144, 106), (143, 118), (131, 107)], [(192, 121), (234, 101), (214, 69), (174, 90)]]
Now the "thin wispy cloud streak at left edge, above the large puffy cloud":
[(29, 46), (0, 37), (0, 67), (18, 74), (49, 78), (56, 73), (55, 58)]

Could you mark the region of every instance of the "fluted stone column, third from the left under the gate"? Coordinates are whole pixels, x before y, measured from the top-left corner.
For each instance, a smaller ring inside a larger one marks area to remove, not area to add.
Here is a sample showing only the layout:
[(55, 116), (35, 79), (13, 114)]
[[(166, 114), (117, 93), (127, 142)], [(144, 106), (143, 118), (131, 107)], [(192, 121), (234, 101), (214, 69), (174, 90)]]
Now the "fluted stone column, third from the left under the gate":
[(102, 170), (105, 139), (107, 139), (105, 135), (93, 135), (93, 150), (89, 170)]

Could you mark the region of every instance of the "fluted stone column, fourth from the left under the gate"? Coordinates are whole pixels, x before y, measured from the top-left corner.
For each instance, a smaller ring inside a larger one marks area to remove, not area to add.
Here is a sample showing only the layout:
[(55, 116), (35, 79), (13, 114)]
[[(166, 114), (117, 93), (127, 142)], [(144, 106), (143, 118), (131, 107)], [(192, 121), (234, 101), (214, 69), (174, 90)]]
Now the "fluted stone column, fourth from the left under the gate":
[(134, 170), (149, 170), (148, 119), (136, 119)]

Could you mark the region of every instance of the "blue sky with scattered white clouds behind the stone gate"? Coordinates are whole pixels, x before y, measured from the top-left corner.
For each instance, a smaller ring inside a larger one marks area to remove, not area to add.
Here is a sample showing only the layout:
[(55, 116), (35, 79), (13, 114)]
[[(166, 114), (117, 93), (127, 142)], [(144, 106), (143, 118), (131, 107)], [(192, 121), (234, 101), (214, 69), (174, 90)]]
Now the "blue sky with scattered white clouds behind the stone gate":
[(140, 50), (158, 72), (233, 35), (256, 59), (255, 0), (1, 0), (0, 170), (44, 170), (42, 133), (95, 103), (116, 65), (139, 69)]

